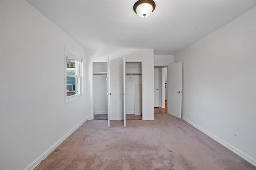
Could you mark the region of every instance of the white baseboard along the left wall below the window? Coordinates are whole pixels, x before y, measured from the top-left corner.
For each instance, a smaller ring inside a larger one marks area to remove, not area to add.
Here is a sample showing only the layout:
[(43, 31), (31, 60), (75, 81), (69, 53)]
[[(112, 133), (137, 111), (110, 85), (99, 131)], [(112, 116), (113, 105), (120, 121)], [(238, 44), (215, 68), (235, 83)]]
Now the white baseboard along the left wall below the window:
[(76, 125), (73, 129), (71, 129), (66, 135), (61, 137), (56, 143), (54, 143), (49, 149), (47, 149), (43, 154), (41, 154), (36, 160), (34, 160), (31, 164), (29, 164), (24, 170), (32, 170), (34, 169), (42, 160), (44, 160), (54, 149), (56, 149), (65, 139), (67, 139), (76, 129), (78, 129), (84, 122), (87, 121), (87, 117), (83, 119), (78, 125)]

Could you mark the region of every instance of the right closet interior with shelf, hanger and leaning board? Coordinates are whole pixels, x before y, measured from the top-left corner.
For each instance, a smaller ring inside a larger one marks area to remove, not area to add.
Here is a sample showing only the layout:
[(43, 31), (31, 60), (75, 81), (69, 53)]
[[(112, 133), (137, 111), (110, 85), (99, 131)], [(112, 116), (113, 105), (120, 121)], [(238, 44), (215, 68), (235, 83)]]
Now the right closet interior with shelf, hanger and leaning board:
[(126, 62), (127, 120), (142, 119), (142, 63)]

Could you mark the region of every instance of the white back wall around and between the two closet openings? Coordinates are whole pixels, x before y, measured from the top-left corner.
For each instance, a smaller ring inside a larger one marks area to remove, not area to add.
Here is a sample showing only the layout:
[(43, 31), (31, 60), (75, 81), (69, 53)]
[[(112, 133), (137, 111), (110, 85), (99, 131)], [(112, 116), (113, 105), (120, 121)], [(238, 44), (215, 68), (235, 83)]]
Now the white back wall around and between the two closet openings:
[[(110, 63), (111, 120), (122, 120), (123, 116), (123, 56), (127, 60), (143, 61), (144, 119), (154, 119), (154, 51), (153, 49), (88, 49), (86, 50), (86, 92), (90, 92), (90, 59), (107, 59)], [(86, 96), (86, 108), (90, 108), (90, 95)], [(90, 109), (88, 109), (90, 110)], [(110, 124), (111, 127), (111, 124)]]

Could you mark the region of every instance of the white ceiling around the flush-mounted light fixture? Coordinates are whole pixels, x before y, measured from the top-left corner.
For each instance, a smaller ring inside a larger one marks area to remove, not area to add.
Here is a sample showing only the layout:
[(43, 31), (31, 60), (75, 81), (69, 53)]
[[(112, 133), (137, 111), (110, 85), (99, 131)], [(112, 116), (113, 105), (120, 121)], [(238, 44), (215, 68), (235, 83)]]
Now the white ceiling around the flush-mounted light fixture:
[(137, 0), (27, 0), (86, 49), (154, 49), (174, 55), (244, 14), (256, 0), (154, 0), (140, 18)]

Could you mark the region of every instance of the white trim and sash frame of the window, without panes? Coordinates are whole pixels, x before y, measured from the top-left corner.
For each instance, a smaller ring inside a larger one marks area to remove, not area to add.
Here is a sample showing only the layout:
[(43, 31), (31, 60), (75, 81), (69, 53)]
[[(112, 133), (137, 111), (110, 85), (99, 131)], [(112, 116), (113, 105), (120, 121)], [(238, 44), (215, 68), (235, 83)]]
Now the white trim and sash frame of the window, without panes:
[[(66, 57), (70, 57), (72, 59), (75, 59), (76, 61), (80, 62), (80, 66), (78, 66), (79, 69), (79, 75), (80, 76), (76, 76), (76, 75), (70, 75), (67, 74), (66, 70), (67, 70), (67, 62), (66, 62)], [(74, 53), (73, 51), (71, 51), (68, 47), (66, 47), (65, 49), (65, 83), (64, 83), (64, 89), (65, 89), (65, 104), (69, 104), (71, 102), (74, 102), (76, 100), (80, 100), (83, 98), (82, 96), (82, 68), (83, 68), (83, 59), (82, 57), (80, 57), (80, 55), (77, 55), (76, 53)], [(67, 96), (67, 76), (68, 77), (74, 77), (74, 78), (79, 78), (79, 84), (78, 84), (78, 88), (79, 88), (79, 94), (74, 94), (72, 96)]]

